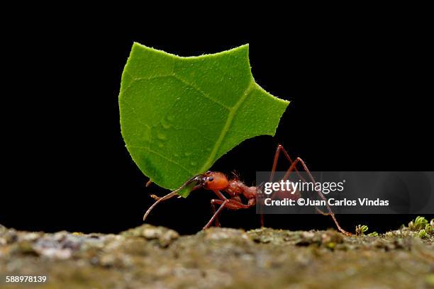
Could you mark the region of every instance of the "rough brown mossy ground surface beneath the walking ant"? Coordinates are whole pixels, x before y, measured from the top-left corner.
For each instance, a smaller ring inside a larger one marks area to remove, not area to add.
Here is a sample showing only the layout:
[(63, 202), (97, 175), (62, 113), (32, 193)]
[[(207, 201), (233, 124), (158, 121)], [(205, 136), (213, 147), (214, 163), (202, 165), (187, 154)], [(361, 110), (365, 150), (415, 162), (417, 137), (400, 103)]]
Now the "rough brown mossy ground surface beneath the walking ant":
[[(410, 227), (410, 226), (409, 226)], [(0, 225), (1, 288), (434, 288), (434, 234), (408, 227), (211, 228), (179, 236), (143, 225), (121, 234), (17, 232)], [(5, 283), (6, 276), (47, 276)]]

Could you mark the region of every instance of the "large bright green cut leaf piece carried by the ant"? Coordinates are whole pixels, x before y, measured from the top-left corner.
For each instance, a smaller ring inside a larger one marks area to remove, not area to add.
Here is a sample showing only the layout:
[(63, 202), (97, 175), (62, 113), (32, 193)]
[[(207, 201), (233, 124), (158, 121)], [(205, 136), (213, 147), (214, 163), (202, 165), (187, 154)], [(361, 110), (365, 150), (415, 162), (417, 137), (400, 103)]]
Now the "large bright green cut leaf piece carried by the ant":
[(179, 57), (134, 43), (122, 74), (121, 131), (143, 174), (173, 190), (243, 140), (274, 135), (288, 103), (256, 84), (248, 45)]

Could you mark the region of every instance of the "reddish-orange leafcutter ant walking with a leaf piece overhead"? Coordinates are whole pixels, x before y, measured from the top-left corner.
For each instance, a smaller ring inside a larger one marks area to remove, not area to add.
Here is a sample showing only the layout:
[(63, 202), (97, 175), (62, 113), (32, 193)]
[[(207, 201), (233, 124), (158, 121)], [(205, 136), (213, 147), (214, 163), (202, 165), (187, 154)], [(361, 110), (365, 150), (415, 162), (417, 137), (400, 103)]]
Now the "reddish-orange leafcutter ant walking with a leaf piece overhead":
[[(274, 162), (272, 166), (272, 173), (269, 177), (269, 181), (272, 181), (274, 179), (274, 173), (277, 168), (277, 162), (279, 160), (280, 153), (283, 152), (284, 156), (288, 160), (288, 162), (291, 164), (289, 166), (289, 169), (286, 171), (286, 174), (284, 175), (282, 181), (286, 181), (286, 179), (289, 178), (290, 174), (295, 171), (297, 174), (299, 174), (298, 169), (296, 168), (297, 164), (301, 164), (304, 171), (306, 171), (306, 174), (308, 178), (313, 182), (316, 183), (315, 179), (313, 179), (313, 176), (311, 172), (309, 171), (308, 167), (304, 163), (304, 161), (297, 157), (294, 161), (289, 157), (288, 152), (286, 152), (286, 149), (282, 145), (278, 145), (276, 149), (276, 153), (274, 154)], [(302, 181), (304, 180), (303, 177), (299, 174), (299, 177)], [(148, 182), (147, 186), (149, 185), (150, 181)], [(204, 188), (208, 191), (213, 191), (216, 196), (218, 196), (218, 199), (211, 200), (211, 205), (213, 208), (213, 216), (211, 217), (211, 220), (208, 221), (208, 223), (204, 226), (204, 229), (207, 229), (211, 226), (211, 224), (215, 221), (216, 226), (220, 227), (220, 222), (218, 222), (218, 214), (220, 214), (221, 210), (223, 208), (228, 208), (229, 210), (239, 210), (239, 209), (247, 209), (252, 208), (252, 206), (256, 205), (257, 200), (262, 196), (262, 191), (260, 187), (257, 186), (246, 186), (245, 183), (240, 181), (238, 179), (238, 176), (235, 176), (233, 179), (228, 179), (228, 177), (218, 171), (207, 171), (205, 174), (199, 174), (197, 176), (192, 177), (188, 181), (186, 181), (181, 187), (177, 188), (177, 190), (172, 191), (171, 193), (167, 194), (163, 197), (157, 197), (155, 195), (151, 195), (152, 198), (157, 200), (154, 204), (150, 206), (150, 208), (145, 212), (145, 215), (143, 216), (143, 220), (146, 220), (146, 217), (148, 217), (150, 211), (155, 208), (155, 205), (162, 202), (163, 200), (167, 200), (169, 198), (172, 198), (174, 196), (177, 196), (177, 193), (181, 191), (183, 188), (186, 188), (187, 186), (193, 186), (191, 188), (191, 191), (198, 190), (199, 188)], [(225, 192), (228, 194), (228, 198), (226, 198), (225, 195), (221, 192)], [(321, 191), (316, 191), (318, 193), (318, 196), (322, 198), (323, 200), (327, 200), (323, 193)], [(240, 196), (243, 195), (247, 199), (247, 204), (244, 204), (240, 198)], [(325, 202), (327, 204), (327, 202)], [(216, 205), (220, 205), (220, 207), (216, 210)], [(333, 218), (333, 221), (335, 222), (336, 227), (338, 227), (339, 231), (343, 234), (350, 236), (352, 235), (350, 232), (345, 231), (342, 227), (340, 227), (338, 220), (335, 217), (335, 214), (330, 209), (328, 205), (326, 205), (326, 208), (328, 209), (328, 212), (323, 212), (319, 208), (316, 208), (318, 212), (320, 212), (323, 215), (330, 215)], [(261, 215), (261, 226), (264, 226), (264, 218), (263, 215)]]

